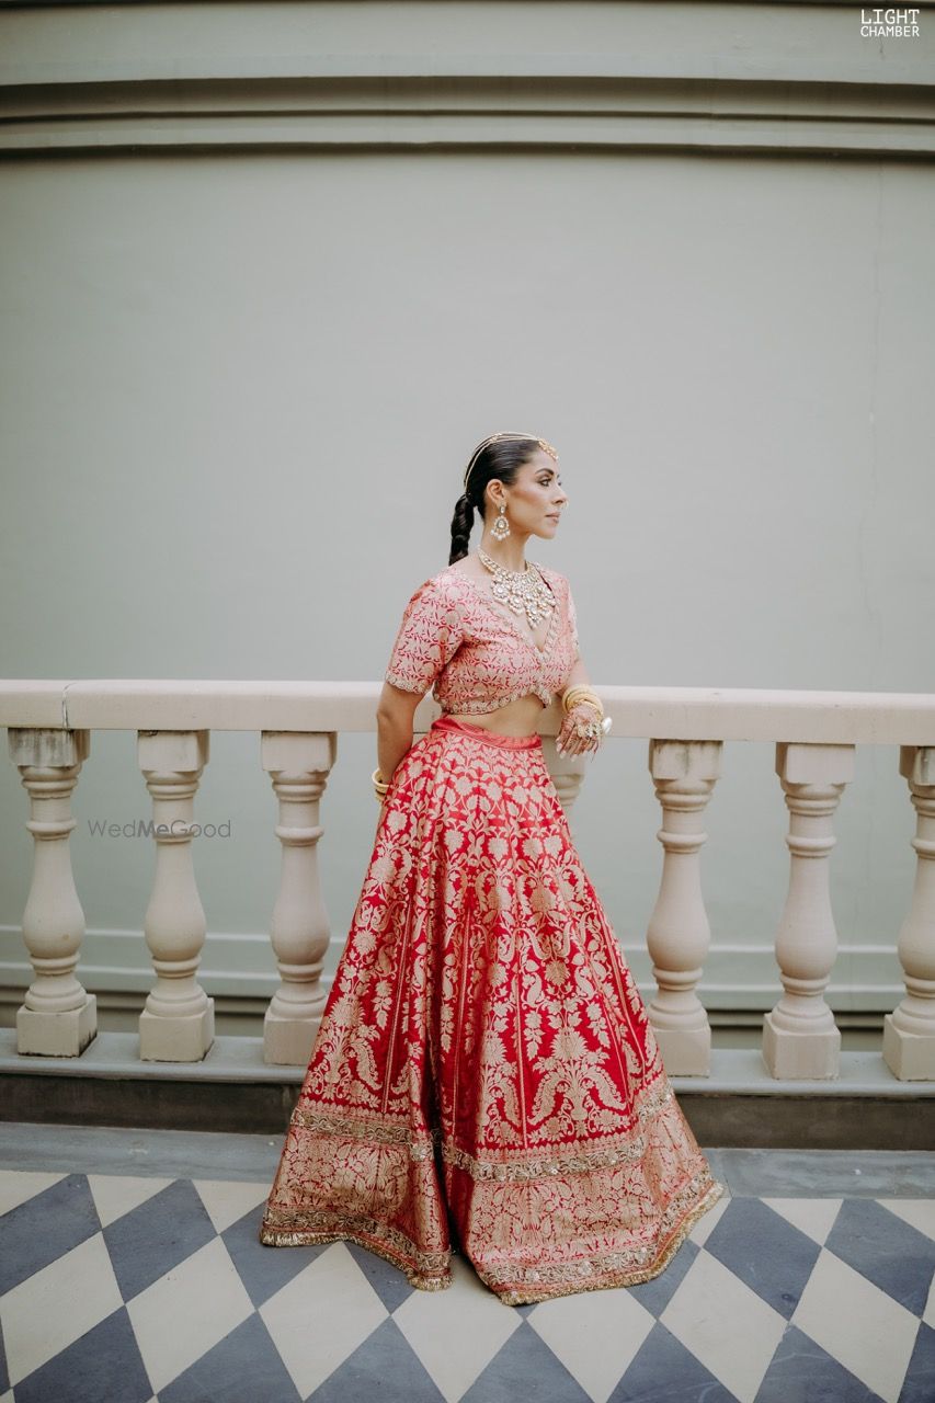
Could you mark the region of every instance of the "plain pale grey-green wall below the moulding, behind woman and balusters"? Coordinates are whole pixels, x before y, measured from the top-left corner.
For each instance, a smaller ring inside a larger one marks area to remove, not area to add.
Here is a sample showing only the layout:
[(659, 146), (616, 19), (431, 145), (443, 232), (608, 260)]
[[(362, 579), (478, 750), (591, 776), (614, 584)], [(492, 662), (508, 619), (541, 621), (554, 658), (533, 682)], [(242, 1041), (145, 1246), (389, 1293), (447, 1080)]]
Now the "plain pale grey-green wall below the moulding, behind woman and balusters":
[[(560, 452), (570, 506), (529, 554), (570, 577), (595, 682), (935, 690), (931, 171), (636, 152), (0, 164), (4, 676), (378, 679), (448, 561), (475, 443), (518, 427)], [(341, 737), (323, 801), (336, 943), (372, 752)], [(90, 964), (146, 988), (152, 850), (86, 824), (147, 814), (133, 735), (93, 735), (74, 807)], [(8, 763), (0, 814), (15, 982), (31, 839)], [(197, 845), (205, 969), (268, 989), (257, 737), (212, 735), (197, 817), (232, 819)], [(609, 742), (574, 826), (644, 989), (658, 819), (646, 745)], [(788, 875), (771, 746), (726, 746), (705, 826), (708, 1002), (768, 1007)], [(862, 749), (831, 859), (833, 986), (862, 988), (838, 1007), (897, 996), (913, 831), (896, 748)]]

